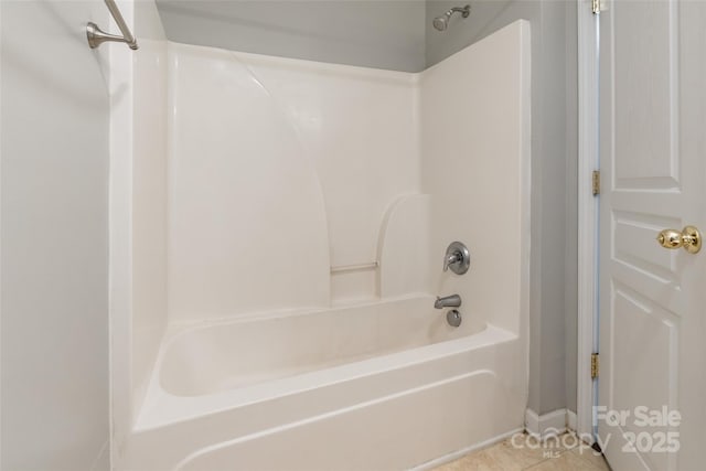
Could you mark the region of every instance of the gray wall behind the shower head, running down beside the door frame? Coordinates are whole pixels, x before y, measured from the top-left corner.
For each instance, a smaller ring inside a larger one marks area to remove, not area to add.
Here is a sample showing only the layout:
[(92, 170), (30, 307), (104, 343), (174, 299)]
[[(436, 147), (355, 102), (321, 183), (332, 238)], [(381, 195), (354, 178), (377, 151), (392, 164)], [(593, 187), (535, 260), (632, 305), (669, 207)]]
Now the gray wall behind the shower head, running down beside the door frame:
[(427, 66), (517, 20), (532, 24), (532, 285), (530, 403), (576, 410), (576, 3), (473, 0), (446, 32), (431, 19), (458, 1), (427, 2)]

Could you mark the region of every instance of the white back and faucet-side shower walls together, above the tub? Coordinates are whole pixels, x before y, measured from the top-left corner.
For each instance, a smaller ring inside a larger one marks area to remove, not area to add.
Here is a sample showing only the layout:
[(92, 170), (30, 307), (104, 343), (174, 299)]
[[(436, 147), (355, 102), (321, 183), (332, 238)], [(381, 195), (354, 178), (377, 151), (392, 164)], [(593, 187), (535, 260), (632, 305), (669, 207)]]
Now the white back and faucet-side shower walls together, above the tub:
[[(527, 30), (420, 74), (170, 43), (170, 320), (419, 291), (517, 319)], [(436, 269), (456, 239), (464, 277)]]

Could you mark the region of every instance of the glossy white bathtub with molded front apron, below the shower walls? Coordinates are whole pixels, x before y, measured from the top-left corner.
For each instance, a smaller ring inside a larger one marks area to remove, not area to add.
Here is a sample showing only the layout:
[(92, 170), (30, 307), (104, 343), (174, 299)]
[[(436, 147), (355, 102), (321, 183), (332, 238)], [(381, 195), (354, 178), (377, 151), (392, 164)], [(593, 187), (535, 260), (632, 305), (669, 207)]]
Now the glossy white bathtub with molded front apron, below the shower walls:
[(432, 304), (172, 329), (119, 467), (408, 469), (522, 428), (520, 338), (472, 314), (452, 328)]

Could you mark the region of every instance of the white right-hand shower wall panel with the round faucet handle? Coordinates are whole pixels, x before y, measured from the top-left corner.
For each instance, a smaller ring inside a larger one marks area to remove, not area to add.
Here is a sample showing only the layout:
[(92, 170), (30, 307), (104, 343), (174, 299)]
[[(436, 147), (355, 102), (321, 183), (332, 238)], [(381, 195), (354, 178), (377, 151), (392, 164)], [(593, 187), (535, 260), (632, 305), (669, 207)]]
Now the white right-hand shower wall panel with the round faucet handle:
[[(515, 28), (516, 26), (516, 28)], [(432, 266), (432, 292), (524, 332), (530, 282), (530, 23), (506, 26), (421, 74), (422, 191), (431, 248), (466, 243), (462, 277)]]

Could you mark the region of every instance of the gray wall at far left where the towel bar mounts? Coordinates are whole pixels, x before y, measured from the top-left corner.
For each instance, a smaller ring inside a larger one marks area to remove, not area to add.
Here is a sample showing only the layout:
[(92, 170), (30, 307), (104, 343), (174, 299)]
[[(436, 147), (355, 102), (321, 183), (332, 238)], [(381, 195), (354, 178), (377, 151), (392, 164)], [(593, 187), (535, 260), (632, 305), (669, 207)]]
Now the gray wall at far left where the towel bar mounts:
[(84, 25), (108, 14), (2, 1), (0, 15), (0, 468), (107, 470), (108, 94)]

